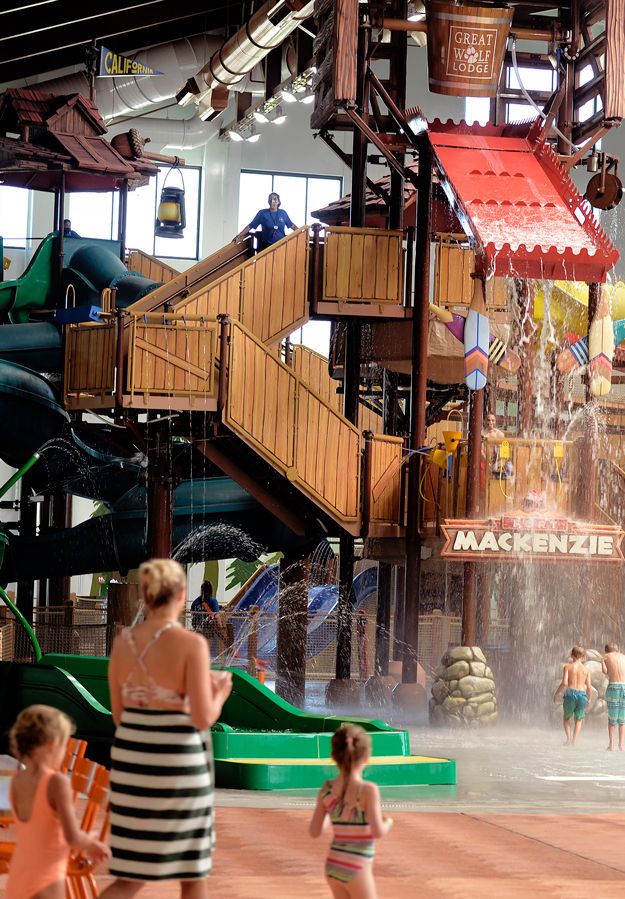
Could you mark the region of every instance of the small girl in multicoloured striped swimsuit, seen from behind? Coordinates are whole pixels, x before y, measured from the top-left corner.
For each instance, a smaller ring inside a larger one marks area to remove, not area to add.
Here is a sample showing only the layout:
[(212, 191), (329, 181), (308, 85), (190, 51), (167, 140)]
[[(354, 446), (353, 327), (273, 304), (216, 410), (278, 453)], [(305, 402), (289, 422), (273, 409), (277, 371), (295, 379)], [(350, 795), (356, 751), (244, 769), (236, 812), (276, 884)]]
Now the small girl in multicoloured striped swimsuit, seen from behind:
[(392, 827), (382, 819), (380, 791), (363, 781), (362, 773), (371, 755), (369, 734), (355, 724), (344, 724), (332, 737), (332, 758), (339, 768), (335, 780), (326, 780), (319, 790), (310, 824), (310, 835), (318, 837), (328, 819), (334, 839), (326, 859), (326, 878), (336, 899), (375, 899), (372, 862), (375, 841)]

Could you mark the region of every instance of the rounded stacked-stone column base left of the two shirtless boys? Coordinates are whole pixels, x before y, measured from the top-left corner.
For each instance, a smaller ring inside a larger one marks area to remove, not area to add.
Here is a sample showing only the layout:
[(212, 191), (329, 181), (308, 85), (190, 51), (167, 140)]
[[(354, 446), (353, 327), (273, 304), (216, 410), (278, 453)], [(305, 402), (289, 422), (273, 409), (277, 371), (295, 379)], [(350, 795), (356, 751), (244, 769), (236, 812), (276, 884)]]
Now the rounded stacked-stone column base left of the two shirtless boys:
[(447, 650), (435, 671), (432, 724), (482, 727), (497, 720), (495, 679), (479, 646)]

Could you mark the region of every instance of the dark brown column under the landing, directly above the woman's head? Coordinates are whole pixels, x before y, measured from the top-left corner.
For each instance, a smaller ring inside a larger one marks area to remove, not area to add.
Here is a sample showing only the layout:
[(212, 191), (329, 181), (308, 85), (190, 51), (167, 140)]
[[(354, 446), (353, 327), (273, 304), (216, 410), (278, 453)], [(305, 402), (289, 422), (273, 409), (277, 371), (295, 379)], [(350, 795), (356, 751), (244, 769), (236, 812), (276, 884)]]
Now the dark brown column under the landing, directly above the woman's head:
[(171, 422), (154, 424), (149, 437), (147, 554), (150, 559), (168, 559), (174, 508)]

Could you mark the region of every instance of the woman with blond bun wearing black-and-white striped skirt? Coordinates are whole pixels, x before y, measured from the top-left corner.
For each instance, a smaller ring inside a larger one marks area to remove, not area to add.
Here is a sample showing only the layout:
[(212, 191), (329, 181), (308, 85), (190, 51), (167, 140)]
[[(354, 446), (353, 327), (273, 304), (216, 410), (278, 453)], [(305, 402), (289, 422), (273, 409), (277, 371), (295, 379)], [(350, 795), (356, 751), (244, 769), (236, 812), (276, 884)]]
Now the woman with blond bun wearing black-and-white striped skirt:
[[(147, 615), (115, 640), (111, 710), (110, 871), (102, 899), (135, 896), (146, 881), (178, 880), (184, 899), (205, 899), (213, 845), (208, 728), (232, 688), (210, 671), (208, 643), (179, 624), (186, 576), (177, 562), (139, 569)], [(221, 676), (220, 676), (221, 675)]]

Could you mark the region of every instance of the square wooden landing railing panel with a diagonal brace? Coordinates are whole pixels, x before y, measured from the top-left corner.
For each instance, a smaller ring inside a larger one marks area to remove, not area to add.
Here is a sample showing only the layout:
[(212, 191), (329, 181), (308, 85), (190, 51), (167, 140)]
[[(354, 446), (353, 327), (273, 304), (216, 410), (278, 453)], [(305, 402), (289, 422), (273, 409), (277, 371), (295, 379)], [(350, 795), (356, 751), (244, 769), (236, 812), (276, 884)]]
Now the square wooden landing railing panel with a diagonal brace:
[(202, 316), (131, 316), (123, 404), (215, 410), (218, 330)]

